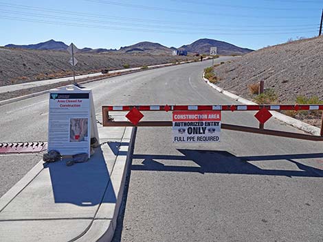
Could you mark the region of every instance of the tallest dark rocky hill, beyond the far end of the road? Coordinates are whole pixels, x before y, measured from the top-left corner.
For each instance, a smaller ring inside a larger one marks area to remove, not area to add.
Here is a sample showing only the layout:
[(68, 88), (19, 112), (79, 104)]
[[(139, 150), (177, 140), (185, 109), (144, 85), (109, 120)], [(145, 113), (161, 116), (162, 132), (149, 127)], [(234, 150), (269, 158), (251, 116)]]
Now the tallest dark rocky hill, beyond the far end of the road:
[(252, 52), (252, 49), (237, 47), (230, 43), (219, 40), (211, 40), (209, 38), (201, 38), (190, 45), (183, 45), (179, 49), (186, 50), (191, 53), (210, 53), (210, 47), (217, 47), (219, 55), (244, 55), (245, 53)]

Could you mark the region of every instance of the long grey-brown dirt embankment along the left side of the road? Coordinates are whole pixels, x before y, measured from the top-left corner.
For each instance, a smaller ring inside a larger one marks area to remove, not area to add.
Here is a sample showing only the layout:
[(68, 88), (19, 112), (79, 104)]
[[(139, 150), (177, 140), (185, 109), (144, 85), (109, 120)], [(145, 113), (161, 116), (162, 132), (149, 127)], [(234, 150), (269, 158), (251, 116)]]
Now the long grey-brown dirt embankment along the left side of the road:
[[(192, 56), (156, 56), (148, 54), (76, 53), (77, 74), (123, 69), (144, 65), (164, 64), (191, 60)], [(47, 80), (72, 75), (69, 53), (65, 51), (40, 51), (0, 48), (0, 86)]]

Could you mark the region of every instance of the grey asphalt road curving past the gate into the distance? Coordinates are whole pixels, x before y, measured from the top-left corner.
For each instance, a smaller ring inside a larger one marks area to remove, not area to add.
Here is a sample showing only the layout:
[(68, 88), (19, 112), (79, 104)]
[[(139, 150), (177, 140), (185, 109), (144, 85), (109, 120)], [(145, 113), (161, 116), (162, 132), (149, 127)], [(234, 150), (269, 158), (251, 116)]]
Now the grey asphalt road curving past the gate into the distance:
[[(217, 61), (224, 61), (218, 59)], [(232, 104), (201, 80), (208, 62), (87, 84), (102, 104)], [(47, 95), (0, 106), (1, 141), (47, 140)], [(146, 119), (170, 119), (148, 113)], [(224, 123), (256, 126), (249, 112)], [(266, 127), (300, 132), (280, 121)], [(173, 144), (170, 128), (138, 128), (113, 241), (322, 241), (322, 143), (221, 132), (221, 143)], [(40, 158), (0, 156), (0, 195)]]

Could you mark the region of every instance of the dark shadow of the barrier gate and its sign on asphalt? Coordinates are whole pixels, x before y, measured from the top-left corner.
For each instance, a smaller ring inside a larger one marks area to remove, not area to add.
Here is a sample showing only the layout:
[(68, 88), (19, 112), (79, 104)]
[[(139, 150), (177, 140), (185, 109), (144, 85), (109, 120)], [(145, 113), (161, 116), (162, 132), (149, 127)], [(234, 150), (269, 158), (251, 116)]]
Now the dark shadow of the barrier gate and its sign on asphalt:
[[(132, 165), (135, 171), (178, 171), (197, 173), (226, 173), (265, 176), (288, 177), (323, 177), (323, 171), (314, 167), (296, 162), (293, 159), (323, 158), (318, 154), (287, 154), (273, 156), (234, 156), (224, 151), (208, 151), (195, 149), (178, 149), (183, 156), (133, 154), (133, 159), (144, 159), (142, 165)], [(192, 160), (199, 167), (164, 165), (156, 160)], [(288, 160), (297, 165), (300, 171), (282, 169), (260, 169), (249, 161)]]

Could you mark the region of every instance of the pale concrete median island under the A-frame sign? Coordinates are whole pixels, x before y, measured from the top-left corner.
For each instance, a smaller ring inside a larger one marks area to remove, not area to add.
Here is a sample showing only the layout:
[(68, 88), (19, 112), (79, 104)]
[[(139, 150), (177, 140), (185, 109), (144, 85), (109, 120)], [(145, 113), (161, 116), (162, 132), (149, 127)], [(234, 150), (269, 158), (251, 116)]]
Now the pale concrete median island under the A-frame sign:
[(0, 199), (1, 241), (110, 241), (131, 159), (133, 128), (99, 128), (88, 162), (39, 162)]

